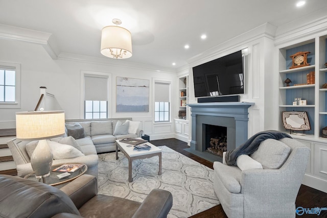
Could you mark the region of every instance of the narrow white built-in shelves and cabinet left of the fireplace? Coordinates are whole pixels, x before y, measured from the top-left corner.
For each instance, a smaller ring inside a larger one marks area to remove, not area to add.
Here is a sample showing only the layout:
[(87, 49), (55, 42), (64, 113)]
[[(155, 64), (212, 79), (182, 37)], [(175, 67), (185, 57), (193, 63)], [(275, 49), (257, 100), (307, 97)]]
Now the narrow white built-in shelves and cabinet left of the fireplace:
[(188, 120), (189, 86), (188, 76), (178, 78), (178, 118), (174, 119), (176, 138), (188, 142), (190, 130)]

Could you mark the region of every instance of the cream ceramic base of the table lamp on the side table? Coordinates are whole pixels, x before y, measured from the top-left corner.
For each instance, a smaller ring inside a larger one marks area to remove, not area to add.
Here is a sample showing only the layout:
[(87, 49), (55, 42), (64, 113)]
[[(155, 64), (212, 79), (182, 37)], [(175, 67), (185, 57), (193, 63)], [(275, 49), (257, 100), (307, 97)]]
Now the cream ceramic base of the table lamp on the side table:
[(53, 154), (45, 139), (39, 140), (32, 156), (31, 165), (36, 178), (50, 175)]

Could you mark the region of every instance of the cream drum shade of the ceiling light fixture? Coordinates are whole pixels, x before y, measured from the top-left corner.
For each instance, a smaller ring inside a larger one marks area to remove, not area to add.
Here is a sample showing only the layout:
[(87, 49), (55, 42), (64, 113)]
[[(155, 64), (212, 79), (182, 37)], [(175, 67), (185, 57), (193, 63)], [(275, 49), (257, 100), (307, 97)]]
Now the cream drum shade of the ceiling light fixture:
[(102, 29), (101, 54), (109, 58), (132, 57), (132, 36), (125, 28), (107, 26)]

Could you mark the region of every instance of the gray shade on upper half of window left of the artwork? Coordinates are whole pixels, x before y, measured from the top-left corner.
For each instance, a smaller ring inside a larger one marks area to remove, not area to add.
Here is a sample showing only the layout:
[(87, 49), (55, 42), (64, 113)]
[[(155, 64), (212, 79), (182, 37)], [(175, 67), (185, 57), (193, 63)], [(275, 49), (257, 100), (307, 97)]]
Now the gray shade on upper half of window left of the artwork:
[(108, 101), (108, 77), (87, 75), (84, 77), (85, 101)]

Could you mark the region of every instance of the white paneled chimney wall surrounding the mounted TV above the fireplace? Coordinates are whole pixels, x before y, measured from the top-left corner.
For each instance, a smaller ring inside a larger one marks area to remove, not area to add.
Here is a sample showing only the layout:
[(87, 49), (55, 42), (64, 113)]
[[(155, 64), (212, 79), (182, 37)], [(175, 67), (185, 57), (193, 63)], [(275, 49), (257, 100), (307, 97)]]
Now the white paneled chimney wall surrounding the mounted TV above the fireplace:
[[(190, 102), (197, 103), (194, 96), (192, 67), (199, 64), (223, 57), (225, 55), (247, 50), (245, 61), (245, 93), (240, 94), (241, 102), (254, 102), (249, 111), (248, 137), (256, 132), (275, 129), (276, 120), (270, 114), (274, 94), (270, 91), (273, 87), (273, 35), (275, 27), (265, 23), (249, 32), (236, 38), (230, 39), (222, 44), (213, 47), (211, 51), (196, 56), (189, 60), (189, 93)], [(189, 120), (190, 117), (189, 117)], [(191, 126), (191, 125), (190, 125)]]

